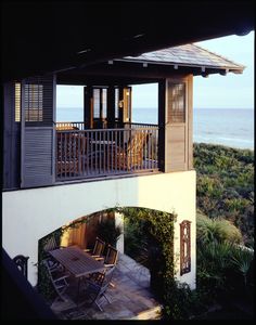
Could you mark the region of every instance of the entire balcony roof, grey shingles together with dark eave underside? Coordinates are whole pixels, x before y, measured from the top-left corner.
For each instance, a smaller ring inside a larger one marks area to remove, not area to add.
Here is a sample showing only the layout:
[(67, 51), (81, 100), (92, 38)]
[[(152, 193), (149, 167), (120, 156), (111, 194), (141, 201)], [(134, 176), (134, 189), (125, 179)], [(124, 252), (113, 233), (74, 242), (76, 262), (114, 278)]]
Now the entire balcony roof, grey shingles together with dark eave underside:
[(66, 72), (59, 72), (57, 83), (65, 84), (136, 84), (185, 75), (207, 77), (210, 74), (242, 74), (243, 65), (195, 44), (185, 44), (137, 57), (108, 60)]

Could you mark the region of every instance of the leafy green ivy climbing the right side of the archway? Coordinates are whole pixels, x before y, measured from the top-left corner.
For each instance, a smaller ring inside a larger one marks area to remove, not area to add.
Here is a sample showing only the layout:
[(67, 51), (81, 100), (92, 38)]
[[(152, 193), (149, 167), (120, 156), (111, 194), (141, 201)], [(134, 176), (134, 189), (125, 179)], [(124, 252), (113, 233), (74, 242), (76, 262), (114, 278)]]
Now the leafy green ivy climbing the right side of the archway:
[(184, 320), (190, 317), (191, 308), (202, 308), (199, 295), (188, 284), (175, 278), (177, 258), (174, 253), (175, 212), (167, 213), (145, 208), (117, 208), (124, 214), (125, 223), (136, 225), (136, 235), (148, 242), (148, 266), (151, 272), (151, 288), (163, 304), (163, 320)]

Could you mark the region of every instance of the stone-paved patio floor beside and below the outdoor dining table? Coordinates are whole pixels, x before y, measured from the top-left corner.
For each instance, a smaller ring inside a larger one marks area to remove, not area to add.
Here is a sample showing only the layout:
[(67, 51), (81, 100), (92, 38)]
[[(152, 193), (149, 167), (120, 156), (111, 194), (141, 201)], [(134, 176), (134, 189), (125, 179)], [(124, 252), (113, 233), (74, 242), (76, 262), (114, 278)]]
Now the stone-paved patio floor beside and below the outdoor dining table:
[[(76, 287), (77, 284), (74, 285)], [(74, 289), (73, 287), (73, 289)], [(74, 299), (55, 301), (51, 309), (61, 320), (158, 320), (161, 304), (150, 290), (150, 272), (126, 255), (119, 253), (116, 270), (106, 296), (102, 297), (102, 309), (93, 303), (90, 308), (77, 308)]]

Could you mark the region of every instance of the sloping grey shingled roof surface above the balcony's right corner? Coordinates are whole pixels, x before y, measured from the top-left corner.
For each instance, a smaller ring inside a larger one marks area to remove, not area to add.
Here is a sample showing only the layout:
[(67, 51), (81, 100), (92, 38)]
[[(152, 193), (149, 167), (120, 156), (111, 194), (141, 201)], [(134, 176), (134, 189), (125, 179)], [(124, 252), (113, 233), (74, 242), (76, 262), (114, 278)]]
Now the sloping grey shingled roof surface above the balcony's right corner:
[(115, 61), (225, 69), (236, 74), (242, 74), (245, 68), (241, 64), (193, 43), (148, 52), (139, 56), (125, 56)]

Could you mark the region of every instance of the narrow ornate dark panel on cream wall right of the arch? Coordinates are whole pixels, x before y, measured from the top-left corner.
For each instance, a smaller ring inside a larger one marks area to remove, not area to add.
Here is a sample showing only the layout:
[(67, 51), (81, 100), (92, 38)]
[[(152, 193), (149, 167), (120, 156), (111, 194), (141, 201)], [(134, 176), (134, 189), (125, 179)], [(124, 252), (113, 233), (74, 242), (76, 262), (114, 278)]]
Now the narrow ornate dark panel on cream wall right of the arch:
[(191, 271), (191, 221), (180, 223), (180, 275)]

